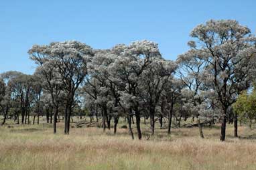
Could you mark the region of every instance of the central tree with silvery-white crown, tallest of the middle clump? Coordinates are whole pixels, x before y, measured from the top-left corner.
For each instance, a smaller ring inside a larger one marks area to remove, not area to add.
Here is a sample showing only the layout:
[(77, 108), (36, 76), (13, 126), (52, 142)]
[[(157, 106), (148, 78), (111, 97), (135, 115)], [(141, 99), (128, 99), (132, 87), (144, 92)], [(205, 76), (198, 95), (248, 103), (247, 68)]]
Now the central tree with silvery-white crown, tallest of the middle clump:
[(135, 115), (138, 139), (141, 139), (141, 86), (145, 84), (143, 72), (155, 58), (161, 58), (161, 55), (157, 44), (146, 40), (135, 41), (129, 46), (121, 44), (112, 50), (118, 57), (109, 69), (115, 82), (121, 82), (120, 104), (125, 110), (129, 110), (129, 116)]

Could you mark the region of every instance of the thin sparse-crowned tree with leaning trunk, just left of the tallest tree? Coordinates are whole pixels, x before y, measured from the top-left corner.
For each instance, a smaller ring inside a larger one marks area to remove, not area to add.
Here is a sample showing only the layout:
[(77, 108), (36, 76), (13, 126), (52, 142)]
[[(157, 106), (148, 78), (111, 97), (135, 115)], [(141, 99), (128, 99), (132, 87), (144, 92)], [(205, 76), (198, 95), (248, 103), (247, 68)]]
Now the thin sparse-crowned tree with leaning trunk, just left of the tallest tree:
[[(191, 43), (191, 42), (190, 42)], [(192, 44), (188, 44), (193, 46)], [(178, 76), (187, 90), (184, 93), (184, 110), (191, 116), (196, 116), (200, 137), (204, 138), (202, 126), (200, 125), (200, 105), (204, 102), (204, 91), (207, 90), (202, 82), (201, 72), (207, 68), (208, 64), (204, 60), (204, 55), (194, 49), (189, 50), (185, 54), (178, 56), (179, 64)]]

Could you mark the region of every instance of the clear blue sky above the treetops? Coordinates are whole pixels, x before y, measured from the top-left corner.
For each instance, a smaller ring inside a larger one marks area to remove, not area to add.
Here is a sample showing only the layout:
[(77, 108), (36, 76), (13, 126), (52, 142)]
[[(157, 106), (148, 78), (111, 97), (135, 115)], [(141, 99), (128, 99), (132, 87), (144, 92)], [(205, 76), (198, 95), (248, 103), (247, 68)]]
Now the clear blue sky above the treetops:
[(0, 73), (36, 68), (33, 44), (78, 40), (92, 48), (149, 39), (164, 58), (188, 50), (193, 27), (208, 19), (237, 19), (256, 31), (256, 1), (12, 1), (0, 2)]

